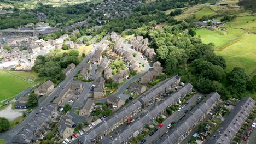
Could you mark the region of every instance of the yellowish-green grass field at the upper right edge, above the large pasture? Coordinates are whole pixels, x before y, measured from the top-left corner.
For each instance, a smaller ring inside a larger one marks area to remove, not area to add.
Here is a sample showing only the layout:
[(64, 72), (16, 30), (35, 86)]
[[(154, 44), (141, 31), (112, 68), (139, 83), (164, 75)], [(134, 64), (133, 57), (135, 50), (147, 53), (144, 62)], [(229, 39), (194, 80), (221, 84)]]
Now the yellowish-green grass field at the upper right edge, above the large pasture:
[(256, 32), (256, 16), (237, 17), (224, 25), (228, 28), (244, 28), (249, 32)]

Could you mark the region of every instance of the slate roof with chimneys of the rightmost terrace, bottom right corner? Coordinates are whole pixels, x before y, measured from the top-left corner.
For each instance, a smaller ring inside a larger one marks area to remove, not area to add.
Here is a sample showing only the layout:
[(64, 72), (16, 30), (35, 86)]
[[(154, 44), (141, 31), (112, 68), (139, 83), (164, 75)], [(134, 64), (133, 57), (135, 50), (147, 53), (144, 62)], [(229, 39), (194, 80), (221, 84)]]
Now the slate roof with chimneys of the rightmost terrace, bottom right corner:
[(242, 98), (206, 143), (231, 143), (240, 126), (253, 110), (254, 105), (255, 101), (251, 97)]

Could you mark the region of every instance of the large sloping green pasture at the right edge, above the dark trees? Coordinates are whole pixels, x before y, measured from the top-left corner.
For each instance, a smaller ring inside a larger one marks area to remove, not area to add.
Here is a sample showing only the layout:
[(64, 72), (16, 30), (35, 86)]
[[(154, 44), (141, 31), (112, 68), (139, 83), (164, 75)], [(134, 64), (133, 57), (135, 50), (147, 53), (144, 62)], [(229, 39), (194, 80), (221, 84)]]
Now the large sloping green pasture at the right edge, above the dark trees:
[[(256, 34), (245, 34), (243, 38), (235, 44), (226, 47), (216, 54), (226, 59), (228, 67), (226, 71), (231, 71), (234, 67), (241, 67), (247, 70), (247, 74), (252, 74), (256, 70)], [(254, 73), (255, 74), (255, 73)]]

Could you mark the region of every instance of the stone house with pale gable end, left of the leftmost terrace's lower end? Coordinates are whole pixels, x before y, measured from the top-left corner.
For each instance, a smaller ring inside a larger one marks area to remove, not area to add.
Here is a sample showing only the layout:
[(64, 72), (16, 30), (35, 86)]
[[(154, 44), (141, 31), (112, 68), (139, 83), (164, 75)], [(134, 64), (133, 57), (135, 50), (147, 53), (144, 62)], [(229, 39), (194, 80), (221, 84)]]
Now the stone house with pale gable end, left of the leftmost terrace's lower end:
[(60, 137), (66, 138), (70, 137), (73, 134), (73, 128), (72, 125), (74, 122), (72, 121), (72, 117), (69, 115), (62, 115), (60, 118), (59, 126), (58, 126), (58, 132), (60, 134)]

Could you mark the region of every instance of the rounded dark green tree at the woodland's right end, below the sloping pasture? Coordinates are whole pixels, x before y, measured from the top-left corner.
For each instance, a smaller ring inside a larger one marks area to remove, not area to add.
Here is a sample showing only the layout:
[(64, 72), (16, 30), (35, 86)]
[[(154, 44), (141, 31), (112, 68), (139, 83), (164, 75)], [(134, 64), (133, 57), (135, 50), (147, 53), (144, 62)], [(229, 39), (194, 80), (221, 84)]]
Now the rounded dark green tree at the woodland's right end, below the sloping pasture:
[(246, 91), (249, 76), (243, 68), (235, 67), (228, 75), (229, 84), (235, 92), (242, 93)]

